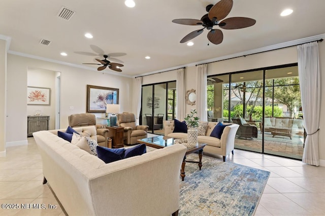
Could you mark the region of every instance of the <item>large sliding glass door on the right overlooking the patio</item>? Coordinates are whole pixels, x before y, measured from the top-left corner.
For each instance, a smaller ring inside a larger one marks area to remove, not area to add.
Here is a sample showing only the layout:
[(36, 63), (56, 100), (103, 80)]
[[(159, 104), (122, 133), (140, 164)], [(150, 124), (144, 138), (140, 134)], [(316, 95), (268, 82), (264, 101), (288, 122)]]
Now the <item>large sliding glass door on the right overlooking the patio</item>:
[(207, 81), (208, 120), (240, 125), (235, 148), (302, 159), (297, 65), (214, 75)]

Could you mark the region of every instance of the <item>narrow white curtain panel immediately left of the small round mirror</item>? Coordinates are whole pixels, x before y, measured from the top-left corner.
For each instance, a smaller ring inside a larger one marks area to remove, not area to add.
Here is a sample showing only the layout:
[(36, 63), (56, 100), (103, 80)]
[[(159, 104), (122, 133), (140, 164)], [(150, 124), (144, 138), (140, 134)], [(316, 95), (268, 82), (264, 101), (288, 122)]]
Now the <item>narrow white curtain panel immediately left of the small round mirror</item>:
[(176, 118), (182, 121), (185, 118), (184, 68), (177, 69), (176, 73)]

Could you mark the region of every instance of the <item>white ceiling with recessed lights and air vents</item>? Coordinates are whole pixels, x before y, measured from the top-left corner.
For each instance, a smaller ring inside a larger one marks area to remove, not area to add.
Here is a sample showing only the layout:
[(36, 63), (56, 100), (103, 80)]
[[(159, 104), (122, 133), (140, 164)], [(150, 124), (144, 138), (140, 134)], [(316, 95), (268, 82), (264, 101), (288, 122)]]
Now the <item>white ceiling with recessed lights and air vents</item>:
[[(124, 0), (1, 0), (0, 34), (11, 38), (9, 53), (92, 70), (98, 66), (82, 63), (95, 63), (95, 57), (75, 52), (95, 54), (90, 47), (94, 45), (106, 54), (126, 53), (115, 57), (124, 62), (121, 74), (138, 76), (325, 33), (324, 0), (234, 0), (226, 18), (249, 17), (256, 24), (221, 29), (220, 45), (207, 45), (205, 29), (191, 40), (194, 46), (188, 47), (179, 41), (200, 26), (179, 25), (172, 20), (201, 19), (207, 13), (205, 7), (218, 0), (134, 1), (136, 7), (127, 8)], [(70, 21), (57, 16), (62, 6), (76, 12)], [(294, 13), (280, 17), (286, 8)], [(84, 37), (86, 32), (93, 38)], [(41, 39), (51, 44), (41, 45)], [(61, 52), (68, 56), (61, 56)], [(150, 60), (144, 58), (147, 55)], [(108, 68), (104, 72), (118, 73)]]

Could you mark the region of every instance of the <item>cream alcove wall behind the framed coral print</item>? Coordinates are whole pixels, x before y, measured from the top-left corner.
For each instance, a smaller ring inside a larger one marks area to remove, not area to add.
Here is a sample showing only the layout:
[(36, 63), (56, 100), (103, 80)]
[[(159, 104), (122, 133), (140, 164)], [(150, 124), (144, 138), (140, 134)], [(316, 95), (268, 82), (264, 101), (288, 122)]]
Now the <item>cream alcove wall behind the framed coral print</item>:
[(55, 129), (56, 75), (57, 72), (51, 70), (27, 69), (27, 86), (49, 88), (51, 92), (50, 106), (27, 105), (27, 115), (35, 115), (36, 110), (40, 110), (41, 115), (49, 115), (49, 129)]

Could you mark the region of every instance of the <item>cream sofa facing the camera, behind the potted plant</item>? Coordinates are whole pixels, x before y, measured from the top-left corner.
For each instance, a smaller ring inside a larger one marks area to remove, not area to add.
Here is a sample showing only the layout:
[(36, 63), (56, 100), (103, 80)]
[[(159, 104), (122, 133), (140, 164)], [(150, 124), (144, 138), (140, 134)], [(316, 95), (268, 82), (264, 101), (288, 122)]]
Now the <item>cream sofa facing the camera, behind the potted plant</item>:
[[(215, 137), (210, 137), (214, 126), (218, 122), (208, 122), (208, 127), (206, 129), (205, 136), (198, 136), (199, 143), (206, 143), (203, 151), (210, 154), (222, 155), (223, 161), (225, 161), (226, 156), (232, 152), (234, 154), (235, 136), (238, 124), (224, 123), (227, 126), (223, 129), (221, 139)], [(173, 133), (174, 131), (174, 120), (164, 120), (165, 136), (177, 139), (187, 139), (186, 133)]]

